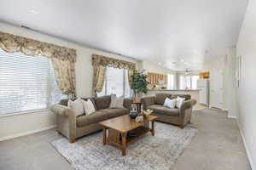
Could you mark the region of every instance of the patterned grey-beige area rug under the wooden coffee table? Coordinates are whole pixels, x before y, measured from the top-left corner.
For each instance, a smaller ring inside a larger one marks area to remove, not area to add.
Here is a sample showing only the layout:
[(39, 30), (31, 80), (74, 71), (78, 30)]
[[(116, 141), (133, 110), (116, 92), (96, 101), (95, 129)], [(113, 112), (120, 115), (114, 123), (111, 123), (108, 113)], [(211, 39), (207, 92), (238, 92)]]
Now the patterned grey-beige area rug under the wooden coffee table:
[(126, 156), (118, 148), (102, 144), (102, 132), (70, 144), (66, 138), (52, 142), (55, 150), (76, 170), (170, 170), (197, 133), (190, 125), (183, 129), (155, 122), (155, 136), (147, 133), (128, 144)]

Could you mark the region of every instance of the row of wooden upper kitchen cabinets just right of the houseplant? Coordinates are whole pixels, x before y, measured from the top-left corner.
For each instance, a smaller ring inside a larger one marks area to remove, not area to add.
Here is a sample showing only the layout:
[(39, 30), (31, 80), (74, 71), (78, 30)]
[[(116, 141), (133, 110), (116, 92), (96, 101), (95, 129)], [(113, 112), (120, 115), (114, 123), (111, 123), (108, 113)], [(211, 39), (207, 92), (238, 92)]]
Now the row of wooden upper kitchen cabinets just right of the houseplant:
[(167, 85), (168, 77), (164, 74), (148, 72), (148, 82), (151, 85)]

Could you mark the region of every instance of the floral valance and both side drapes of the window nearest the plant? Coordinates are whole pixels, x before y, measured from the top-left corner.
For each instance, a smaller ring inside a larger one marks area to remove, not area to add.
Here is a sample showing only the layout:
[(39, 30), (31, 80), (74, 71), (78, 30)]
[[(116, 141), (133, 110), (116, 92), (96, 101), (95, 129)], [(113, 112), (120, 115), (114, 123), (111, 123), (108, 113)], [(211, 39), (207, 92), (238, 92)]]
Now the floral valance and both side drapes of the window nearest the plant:
[(135, 63), (131, 63), (131, 62), (120, 60), (120, 59), (112, 59), (102, 55), (92, 54), (92, 66), (93, 66), (93, 83), (92, 83), (93, 91), (92, 92), (94, 96), (96, 96), (97, 92), (98, 93), (102, 92), (107, 66), (110, 66), (113, 68), (119, 68), (119, 69), (128, 69), (129, 85), (131, 87), (131, 75), (133, 74), (133, 71), (136, 69)]

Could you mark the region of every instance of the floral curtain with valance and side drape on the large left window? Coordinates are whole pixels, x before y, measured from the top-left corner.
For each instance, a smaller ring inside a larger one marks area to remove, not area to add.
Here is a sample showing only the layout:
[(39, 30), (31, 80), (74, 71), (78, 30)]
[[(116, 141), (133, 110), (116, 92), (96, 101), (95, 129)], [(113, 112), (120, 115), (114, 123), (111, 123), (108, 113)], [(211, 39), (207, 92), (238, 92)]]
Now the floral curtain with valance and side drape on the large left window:
[(62, 94), (75, 95), (74, 63), (76, 50), (0, 31), (0, 48), (8, 53), (20, 52), (26, 55), (51, 58), (55, 78)]

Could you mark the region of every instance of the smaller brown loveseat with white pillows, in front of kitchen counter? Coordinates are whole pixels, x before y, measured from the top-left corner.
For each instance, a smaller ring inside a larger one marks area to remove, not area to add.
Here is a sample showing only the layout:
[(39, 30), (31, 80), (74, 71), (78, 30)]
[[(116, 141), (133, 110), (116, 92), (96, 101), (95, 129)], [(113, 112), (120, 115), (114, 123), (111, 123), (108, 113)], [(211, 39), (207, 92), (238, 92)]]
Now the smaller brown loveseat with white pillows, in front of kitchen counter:
[[(177, 96), (185, 98), (179, 109), (170, 109), (164, 106), (166, 97), (174, 99)], [(153, 115), (158, 116), (157, 121), (175, 124), (183, 128), (191, 120), (192, 108), (196, 104), (196, 100), (191, 99), (189, 94), (156, 94), (143, 98), (142, 103), (144, 109), (153, 110)]]

